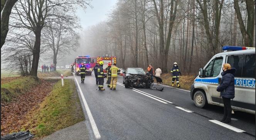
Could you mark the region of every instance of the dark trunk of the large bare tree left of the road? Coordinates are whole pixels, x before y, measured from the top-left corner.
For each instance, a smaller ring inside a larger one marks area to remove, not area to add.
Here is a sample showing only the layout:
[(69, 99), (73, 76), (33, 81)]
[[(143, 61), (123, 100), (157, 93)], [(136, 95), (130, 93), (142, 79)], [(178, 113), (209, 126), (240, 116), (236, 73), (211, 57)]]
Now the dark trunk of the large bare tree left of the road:
[(35, 44), (33, 48), (33, 60), (30, 75), (37, 77), (37, 68), (40, 57), (40, 45), (41, 45), (41, 28), (37, 27), (35, 30)]

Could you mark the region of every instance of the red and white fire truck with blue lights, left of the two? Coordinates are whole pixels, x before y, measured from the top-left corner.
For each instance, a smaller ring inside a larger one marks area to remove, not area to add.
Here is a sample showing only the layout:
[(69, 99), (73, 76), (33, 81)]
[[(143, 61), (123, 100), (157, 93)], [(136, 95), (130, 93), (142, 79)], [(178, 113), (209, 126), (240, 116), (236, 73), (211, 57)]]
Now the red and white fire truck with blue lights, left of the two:
[(73, 63), (74, 70), (76, 75), (80, 75), (79, 67), (82, 63), (84, 63), (84, 66), (86, 67), (86, 75), (91, 75), (93, 71), (93, 67), (95, 67), (97, 63), (97, 58), (95, 57), (89, 57), (89, 56), (78, 56), (75, 58), (75, 62)]

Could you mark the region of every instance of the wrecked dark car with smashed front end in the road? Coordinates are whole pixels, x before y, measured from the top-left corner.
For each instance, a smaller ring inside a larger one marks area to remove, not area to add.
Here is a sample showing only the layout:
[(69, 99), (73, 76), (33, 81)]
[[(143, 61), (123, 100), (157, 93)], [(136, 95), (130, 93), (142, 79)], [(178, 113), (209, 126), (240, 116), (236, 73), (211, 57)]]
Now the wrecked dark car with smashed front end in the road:
[[(145, 73), (143, 68), (127, 68), (123, 74), (123, 84), (125, 88), (150, 88), (162, 91), (163, 88), (153, 87), (154, 80), (152, 80), (149, 73)], [(154, 76), (155, 77), (155, 76)], [(162, 82), (162, 79), (155, 77), (157, 82)]]

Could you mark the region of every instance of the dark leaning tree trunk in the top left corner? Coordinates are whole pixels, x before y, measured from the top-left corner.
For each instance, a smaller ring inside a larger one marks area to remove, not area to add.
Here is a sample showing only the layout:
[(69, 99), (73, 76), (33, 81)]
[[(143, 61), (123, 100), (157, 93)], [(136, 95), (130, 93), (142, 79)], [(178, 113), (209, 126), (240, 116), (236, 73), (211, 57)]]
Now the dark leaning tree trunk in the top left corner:
[(12, 7), (17, 1), (18, 0), (7, 0), (4, 7), (3, 7), (2, 3), (4, 3), (4, 1), (1, 0), (1, 12), (2, 12), (2, 17), (1, 17), (1, 48), (3, 47), (3, 44), (5, 43), (5, 38), (7, 36), (8, 31), (9, 31), (9, 18), (10, 18), (10, 14), (12, 12)]

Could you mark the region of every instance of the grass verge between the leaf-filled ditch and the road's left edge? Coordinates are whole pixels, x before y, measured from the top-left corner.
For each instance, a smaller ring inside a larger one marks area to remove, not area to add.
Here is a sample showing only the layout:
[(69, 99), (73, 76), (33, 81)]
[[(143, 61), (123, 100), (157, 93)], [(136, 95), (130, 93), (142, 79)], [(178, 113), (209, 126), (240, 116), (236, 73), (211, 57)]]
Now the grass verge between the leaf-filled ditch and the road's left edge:
[(23, 129), (30, 130), (36, 138), (83, 121), (84, 114), (74, 80), (64, 79), (64, 87), (59, 80), (40, 106), (27, 113), (26, 120), (28, 122)]

